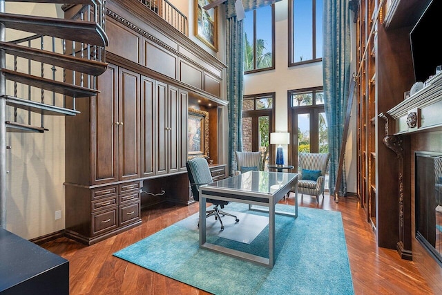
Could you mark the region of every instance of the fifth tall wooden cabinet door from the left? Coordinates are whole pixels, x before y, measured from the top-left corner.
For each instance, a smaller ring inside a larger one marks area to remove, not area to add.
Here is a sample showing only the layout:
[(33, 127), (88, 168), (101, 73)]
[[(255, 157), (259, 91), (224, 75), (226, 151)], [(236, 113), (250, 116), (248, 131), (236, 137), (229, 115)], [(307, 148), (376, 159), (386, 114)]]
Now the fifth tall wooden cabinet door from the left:
[(178, 171), (178, 155), (180, 146), (178, 145), (177, 135), (180, 133), (181, 126), (178, 109), (180, 108), (180, 96), (178, 95), (178, 89), (169, 86), (169, 173)]

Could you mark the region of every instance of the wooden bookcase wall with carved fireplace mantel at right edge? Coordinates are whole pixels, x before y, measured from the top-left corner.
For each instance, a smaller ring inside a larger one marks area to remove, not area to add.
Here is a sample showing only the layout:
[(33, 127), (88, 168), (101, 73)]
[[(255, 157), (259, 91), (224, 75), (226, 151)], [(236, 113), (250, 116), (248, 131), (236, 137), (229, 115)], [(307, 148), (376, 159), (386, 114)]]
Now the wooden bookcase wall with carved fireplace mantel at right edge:
[[(410, 34), (431, 2), (358, 1), (358, 193), (378, 246), (396, 249), (401, 258), (413, 260), (434, 293), (440, 294), (442, 267), (416, 240), (416, 182), (421, 179), (416, 175), (416, 155), (442, 153), (442, 73), (434, 73), (441, 59), (437, 51), (430, 54), (436, 41), (435, 35), (427, 35), (439, 26), (439, 19), (421, 28), (425, 36)], [(440, 6), (433, 12), (439, 15)], [(413, 48), (416, 45), (429, 51), (419, 52)], [(417, 53), (420, 56), (413, 56)], [(421, 81), (426, 82), (424, 88), (408, 93), (419, 82), (416, 68), (428, 66), (425, 62), (431, 69)], [(428, 79), (430, 75), (434, 77)], [(435, 180), (431, 181), (430, 198), (434, 198)], [(432, 217), (435, 210), (430, 210)]]

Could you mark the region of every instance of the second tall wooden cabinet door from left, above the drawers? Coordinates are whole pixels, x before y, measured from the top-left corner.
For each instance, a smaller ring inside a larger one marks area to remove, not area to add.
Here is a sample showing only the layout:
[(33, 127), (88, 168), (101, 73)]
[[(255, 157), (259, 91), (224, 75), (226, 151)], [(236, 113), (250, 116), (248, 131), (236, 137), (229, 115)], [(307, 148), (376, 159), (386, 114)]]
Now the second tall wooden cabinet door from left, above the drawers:
[(140, 177), (140, 75), (119, 71), (119, 179)]

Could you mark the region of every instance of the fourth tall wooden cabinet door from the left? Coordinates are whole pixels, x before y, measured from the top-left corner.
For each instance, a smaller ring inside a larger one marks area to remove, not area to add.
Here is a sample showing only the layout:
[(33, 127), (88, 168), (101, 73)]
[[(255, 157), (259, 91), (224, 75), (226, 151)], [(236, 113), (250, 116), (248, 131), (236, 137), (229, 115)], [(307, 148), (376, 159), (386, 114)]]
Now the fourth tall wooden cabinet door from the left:
[(168, 97), (167, 93), (167, 84), (162, 82), (155, 82), (155, 104), (156, 104), (156, 115), (157, 115), (157, 154), (155, 157), (156, 160), (156, 174), (166, 174), (168, 159), (166, 155), (169, 153), (168, 146), (166, 145), (166, 134), (169, 132), (166, 130), (168, 128), (167, 125), (167, 103), (166, 99)]

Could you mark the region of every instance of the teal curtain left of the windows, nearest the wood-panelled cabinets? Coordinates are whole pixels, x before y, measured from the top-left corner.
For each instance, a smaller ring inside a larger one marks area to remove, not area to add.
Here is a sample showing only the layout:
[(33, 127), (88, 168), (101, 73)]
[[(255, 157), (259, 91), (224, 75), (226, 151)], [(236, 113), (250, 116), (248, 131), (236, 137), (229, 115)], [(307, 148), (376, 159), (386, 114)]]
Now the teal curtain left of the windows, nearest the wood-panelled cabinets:
[[(242, 0), (245, 11), (280, 0)], [(242, 151), (242, 95), (244, 91), (244, 26), (236, 19), (235, 0), (226, 8), (227, 100), (229, 101), (229, 175), (236, 171), (236, 151)]]

